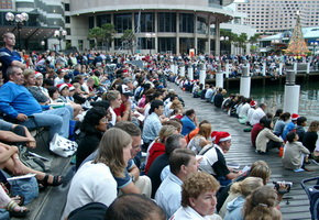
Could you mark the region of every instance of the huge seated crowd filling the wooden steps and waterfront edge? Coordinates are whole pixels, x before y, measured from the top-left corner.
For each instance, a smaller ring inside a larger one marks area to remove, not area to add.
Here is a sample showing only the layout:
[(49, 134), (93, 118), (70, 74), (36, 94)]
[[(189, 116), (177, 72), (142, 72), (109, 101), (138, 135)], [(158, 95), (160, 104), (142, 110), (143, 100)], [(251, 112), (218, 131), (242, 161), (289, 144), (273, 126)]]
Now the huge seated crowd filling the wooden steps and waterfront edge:
[[(76, 173), (62, 220), (124, 220), (128, 216), (136, 220), (282, 219), (278, 202), (283, 195), (265, 186), (268, 165), (256, 161), (244, 173), (230, 168), (224, 154), (231, 147), (231, 134), (212, 131), (207, 120), (199, 122), (196, 111), (185, 109), (176, 91), (167, 89), (167, 78), (250, 124), (257, 153), (282, 147), (287, 140), (285, 167), (306, 169), (306, 155), (314, 153), (316, 158), (317, 121), (301, 134), (302, 117), (292, 114), (287, 123), (288, 112), (273, 118), (265, 113), (265, 103), (235, 95), (224, 98), (226, 90), (212, 86), (198, 89), (196, 81), (169, 69), (172, 62), (190, 62), (188, 56), (125, 57), (98, 52), (21, 56), (13, 51), (12, 33), (6, 33), (3, 41), (0, 132), (6, 132), (0, 135), (0, 168), (11, 175), (33, 173), (43, 187), (58, 186), (62, 176), (23, 165), (12, 142), (36, 147), (29, 132), (34, 128), (47, 128), (48, 142), (56, 134), (75, 140)], [(223, 58), (202, 56), (194, 62), (211, 59), (213, 67)], [(144, 66), (132, 61), (142, 61)], [(70, 131), (70, 121), (78, 124), (79, 132)], [(278, 129), (282, 133), (272, 129), (274, 121), (275, 125), (284, 122)], [(306, 145), (308, 142), (312, 145)], [(309, 146), (312, 148), (307, 150)], [(6, 193), (0, 194), (0, 205), (15, 216), (29, 212), (23, 202)]]

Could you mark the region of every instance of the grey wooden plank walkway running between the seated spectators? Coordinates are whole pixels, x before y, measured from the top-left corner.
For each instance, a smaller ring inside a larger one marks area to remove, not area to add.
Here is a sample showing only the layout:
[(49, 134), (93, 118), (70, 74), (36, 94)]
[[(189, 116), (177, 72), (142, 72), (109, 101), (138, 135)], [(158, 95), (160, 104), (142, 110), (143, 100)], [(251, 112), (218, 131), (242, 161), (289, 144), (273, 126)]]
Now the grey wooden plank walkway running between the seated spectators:
[(226, 154), (227, 162), (235, 162), (243, 167), (244, 165), (251, 165), (257, 160), (264, 160), (268, 163), (272, 169), (272, 176), (270, 185), (273, 182), (286, 180), (293, 182), (294, 186), (289, 194), (286, 194), (284, 198), (293, 197), (288, 200), (284, 199), (280, 202), (280, 210), (285, 220), (309, 220), (309, 200), (300, 186), (301, 179), (308, 177), (315, 177), (319, 175), (319, 166), (311, 164), (308, 168), (315, 169), (315, 172), (294, 173), (283, 168), (282, 160), (278, 156), (278, 151), (271, 151), (267, 155), (260, 155), (254, 152), (251, 146), (250, 132), (243, 132), (246, 128), (238, 123), (235, 118), (231, 118), (220, 109), (215, 108), (213, 105), (206, 102), (199, 98), (193, 98), (189, 92), (185, 92), (179, 89), (175, 84), (168, 82), (168, 87), (174, 89), (178, 96), (185, 101), (185, 109), (194, 109), (198, 117), (198, 121), (208, 120), (212, 124), (215, 131), (227, 131), (232, 136), (232, 146), (230, 152)]

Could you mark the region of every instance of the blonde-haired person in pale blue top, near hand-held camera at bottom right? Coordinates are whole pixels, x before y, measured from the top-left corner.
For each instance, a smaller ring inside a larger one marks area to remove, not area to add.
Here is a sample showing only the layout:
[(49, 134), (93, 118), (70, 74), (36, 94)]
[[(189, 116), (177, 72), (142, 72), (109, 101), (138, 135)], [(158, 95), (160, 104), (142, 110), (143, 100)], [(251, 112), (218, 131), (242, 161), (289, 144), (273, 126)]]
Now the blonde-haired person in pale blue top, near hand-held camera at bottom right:
[(219, 215), (224, 220), (243, 220), (242, 209), (246, 197), (261, 186), (264, 184), (260, 177), (248, 177), (242, 182), (234, 183)]

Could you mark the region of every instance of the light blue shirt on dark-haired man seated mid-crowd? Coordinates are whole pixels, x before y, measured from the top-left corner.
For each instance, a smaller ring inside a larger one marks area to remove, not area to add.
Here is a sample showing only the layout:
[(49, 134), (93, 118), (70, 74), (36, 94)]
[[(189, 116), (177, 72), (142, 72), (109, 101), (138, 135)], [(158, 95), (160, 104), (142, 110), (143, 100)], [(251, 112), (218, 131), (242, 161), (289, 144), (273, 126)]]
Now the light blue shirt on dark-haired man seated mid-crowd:
[(151, 143), (154, 139), (156, 139), (161, 129), (162, 123), (160, 117), (155, 112), (151, 113), (144, 121), (142, 135), (144, 143)]

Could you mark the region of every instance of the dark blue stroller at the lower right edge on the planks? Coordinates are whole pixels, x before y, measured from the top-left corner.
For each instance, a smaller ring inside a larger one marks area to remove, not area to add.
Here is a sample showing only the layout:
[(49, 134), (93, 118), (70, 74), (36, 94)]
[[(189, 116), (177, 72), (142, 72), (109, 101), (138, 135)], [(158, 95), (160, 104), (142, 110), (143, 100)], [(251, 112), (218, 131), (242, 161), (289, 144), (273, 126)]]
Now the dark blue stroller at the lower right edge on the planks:
[[(316, 185), (306, 186), (306, 183), (316, 182)], [(310, 201), (311, 220), (319, 219), (319, 176), (301, 180), (301, 187), (305, 189)]]

